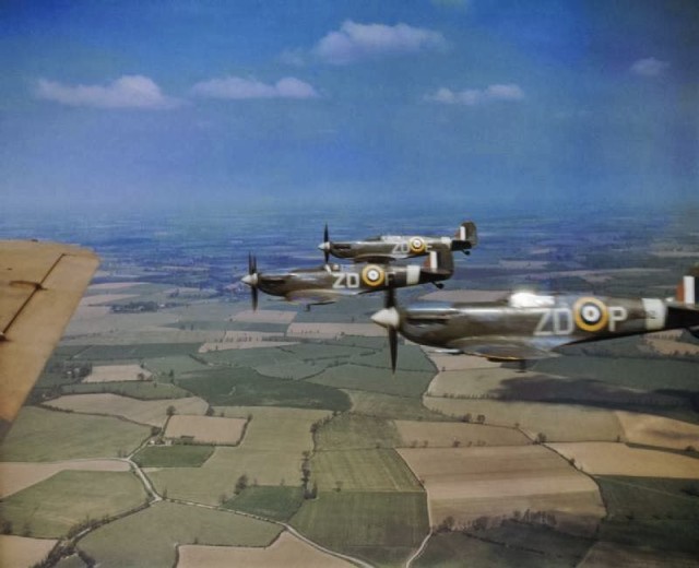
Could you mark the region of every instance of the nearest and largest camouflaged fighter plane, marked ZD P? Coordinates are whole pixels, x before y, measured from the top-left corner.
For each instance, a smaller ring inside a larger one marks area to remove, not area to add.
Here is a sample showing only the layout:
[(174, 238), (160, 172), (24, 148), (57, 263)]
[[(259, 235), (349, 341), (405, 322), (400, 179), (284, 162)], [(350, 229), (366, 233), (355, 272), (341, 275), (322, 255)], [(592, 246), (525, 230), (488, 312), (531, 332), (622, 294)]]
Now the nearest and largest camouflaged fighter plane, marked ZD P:
[(423, 300), (401, 308), (390, 293), (386, 308), (371, 319), (389, 331), (393, 369), (396, 332), (453, 353), (526, 362), (555, 356), (564, 345), (623, 335), (686, 328), (699, 336), (698, 299), (699, 267), (695, 267), (671, 299), (518, 292), (500, 301)]

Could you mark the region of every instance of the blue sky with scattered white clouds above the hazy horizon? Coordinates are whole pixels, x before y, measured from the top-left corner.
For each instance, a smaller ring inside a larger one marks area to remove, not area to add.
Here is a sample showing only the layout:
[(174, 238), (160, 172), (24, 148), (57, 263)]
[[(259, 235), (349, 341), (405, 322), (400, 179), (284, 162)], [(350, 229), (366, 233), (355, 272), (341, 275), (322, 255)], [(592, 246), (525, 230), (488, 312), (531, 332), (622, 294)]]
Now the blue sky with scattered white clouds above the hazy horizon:
[(0, 62), (7, 203), (699, 200), (694, 0), (8, 0)]

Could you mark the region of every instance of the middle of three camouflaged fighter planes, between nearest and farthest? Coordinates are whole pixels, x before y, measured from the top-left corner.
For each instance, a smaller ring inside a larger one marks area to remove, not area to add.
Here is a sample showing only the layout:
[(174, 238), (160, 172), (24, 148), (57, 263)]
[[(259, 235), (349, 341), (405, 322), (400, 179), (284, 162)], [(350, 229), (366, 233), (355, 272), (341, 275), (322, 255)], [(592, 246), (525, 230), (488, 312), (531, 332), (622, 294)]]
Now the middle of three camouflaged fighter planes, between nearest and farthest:
[(442, 287), (442, 280), (453, 274), (451, 251), (430, 252), (423, 265), (390, 265), (370, 263), (341, 265), (325, 263), (317, 268), (288, 272), (259, 272), (254, 257), (248, 258), (248, 274), (242, 282), (252, 291), (252, 308), (258, 306), (258, 291), (282, 296), (287, 301), (311, 305), (332, 304), (345, 296), (357, 296), (388, 288), (433, 283)]

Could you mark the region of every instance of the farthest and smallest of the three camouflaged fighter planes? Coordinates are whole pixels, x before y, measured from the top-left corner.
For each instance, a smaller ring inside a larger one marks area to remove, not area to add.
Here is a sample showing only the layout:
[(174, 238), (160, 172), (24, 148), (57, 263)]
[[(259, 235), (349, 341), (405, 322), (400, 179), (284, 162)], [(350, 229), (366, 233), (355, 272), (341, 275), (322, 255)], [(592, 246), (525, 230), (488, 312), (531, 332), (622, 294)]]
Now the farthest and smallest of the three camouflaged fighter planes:
[(440, 250), (461, 250), (465, 255), (478, 244), (475, 223), (465, 221), (453, 237), (420, 237), (380, 235), (364, 240), (332, 241), (328, 225), (323, 233), (323, 241), (318, 248), (325, 255), (325, 263), (330, 256), (340, 259), (352, 259), (355, 262), (392, 262), (415, 257), (424, 257)]

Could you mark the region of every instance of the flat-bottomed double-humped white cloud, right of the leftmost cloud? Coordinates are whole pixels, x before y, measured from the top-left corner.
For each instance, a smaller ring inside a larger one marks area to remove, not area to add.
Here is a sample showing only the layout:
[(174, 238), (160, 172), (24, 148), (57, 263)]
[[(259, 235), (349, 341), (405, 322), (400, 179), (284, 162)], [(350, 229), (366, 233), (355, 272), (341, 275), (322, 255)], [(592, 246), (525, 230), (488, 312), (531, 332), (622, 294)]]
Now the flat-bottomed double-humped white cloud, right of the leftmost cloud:
[(210, 98), (316, 98), (318, 92), (308, 83), (293, 76), (285, 76), (274, 84), (254, 79), (226, 76), (197, 83), (192, 93)]

